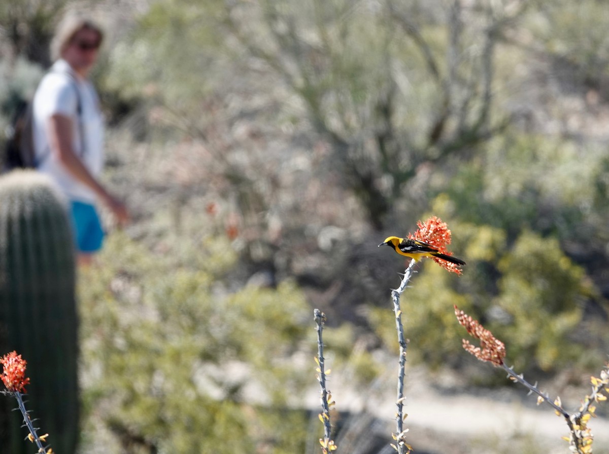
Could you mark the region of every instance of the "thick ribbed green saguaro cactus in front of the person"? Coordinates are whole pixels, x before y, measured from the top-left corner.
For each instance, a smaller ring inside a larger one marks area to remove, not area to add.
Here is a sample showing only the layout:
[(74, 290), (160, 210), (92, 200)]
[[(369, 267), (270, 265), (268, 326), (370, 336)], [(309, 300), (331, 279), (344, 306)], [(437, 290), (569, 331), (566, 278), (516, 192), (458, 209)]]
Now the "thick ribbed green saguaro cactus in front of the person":
[[(27, 360), (27, 408), (61, 454), (75, 452), (79, 434), (75, 274), (67, 208), (52, 182), (35, 171), (0, 177), (0, 354)], [(0, 399), (2, 453), (32, 453), (15, 402)]]

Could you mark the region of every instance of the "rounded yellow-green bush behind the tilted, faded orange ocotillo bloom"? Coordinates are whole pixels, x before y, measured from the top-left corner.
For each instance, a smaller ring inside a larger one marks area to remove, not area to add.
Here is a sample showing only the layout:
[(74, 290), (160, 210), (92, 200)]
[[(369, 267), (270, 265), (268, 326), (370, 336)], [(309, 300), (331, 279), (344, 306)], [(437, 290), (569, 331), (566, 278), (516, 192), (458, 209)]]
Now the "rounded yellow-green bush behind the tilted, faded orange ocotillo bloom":
[(577, 342), (576, 328), (591, 290), (582, 268), (556, 239), (523, 232), (499, 261), (499, 272), (494, 303), (504, 322), (488, 327), (504, 340), (510, 361), (522, 367), (532, 356), (543, 370), (552, 370), (577, 360), (585, 346)]

